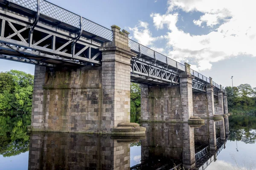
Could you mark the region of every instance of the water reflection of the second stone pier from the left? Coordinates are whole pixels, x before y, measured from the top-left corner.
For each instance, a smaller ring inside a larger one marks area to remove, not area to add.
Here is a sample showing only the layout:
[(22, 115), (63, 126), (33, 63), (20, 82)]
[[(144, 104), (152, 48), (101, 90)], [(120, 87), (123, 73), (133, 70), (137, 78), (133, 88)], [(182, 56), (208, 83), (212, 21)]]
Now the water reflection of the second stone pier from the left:
[(172, 122), (143, 122), (142, 126), (147, 128), (141, 141), (142, 169), (154, 164), (171, 169), (180, 163), (186, 169), (195, 167), (193, 127)]

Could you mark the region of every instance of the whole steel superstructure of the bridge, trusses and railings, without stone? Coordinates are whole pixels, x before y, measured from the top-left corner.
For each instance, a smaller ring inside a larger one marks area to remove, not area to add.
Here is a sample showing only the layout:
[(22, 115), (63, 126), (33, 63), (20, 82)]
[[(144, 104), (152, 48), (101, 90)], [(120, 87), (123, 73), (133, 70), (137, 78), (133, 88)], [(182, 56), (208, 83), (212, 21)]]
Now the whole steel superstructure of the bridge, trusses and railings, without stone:
[[(0, 0), (0, 59), (56, 67), (101, 65), (99, 47), (113, 32), (46, 0)], [(129, 40), (131, 80), (179, 85), (185, 65)], [(191, 69), (194, 91), (206, 91), (209, 78)], [(221, 88), (215, 82), (214, 95)], [(224, 90), (224, 89), (223, 89)]]

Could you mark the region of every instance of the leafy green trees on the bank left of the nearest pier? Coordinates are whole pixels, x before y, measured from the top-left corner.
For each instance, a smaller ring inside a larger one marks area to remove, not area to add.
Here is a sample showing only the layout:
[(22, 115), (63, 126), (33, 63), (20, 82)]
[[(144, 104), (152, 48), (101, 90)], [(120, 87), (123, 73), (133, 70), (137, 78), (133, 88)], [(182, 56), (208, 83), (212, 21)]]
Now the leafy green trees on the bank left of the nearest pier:
[(0, 115), (31, 114), (33, 83), (34, 76), (23, 71), (0, 72)]

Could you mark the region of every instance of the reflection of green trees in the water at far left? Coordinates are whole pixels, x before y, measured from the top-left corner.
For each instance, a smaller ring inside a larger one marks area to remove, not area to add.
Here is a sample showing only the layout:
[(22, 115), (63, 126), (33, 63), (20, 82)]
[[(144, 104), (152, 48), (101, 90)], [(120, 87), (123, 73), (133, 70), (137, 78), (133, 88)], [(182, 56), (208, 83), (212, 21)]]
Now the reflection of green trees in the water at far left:
[(15, 156), (29, 150), (26, 127), (31, 124), (30, 116), (0, 116), (0, 155)]

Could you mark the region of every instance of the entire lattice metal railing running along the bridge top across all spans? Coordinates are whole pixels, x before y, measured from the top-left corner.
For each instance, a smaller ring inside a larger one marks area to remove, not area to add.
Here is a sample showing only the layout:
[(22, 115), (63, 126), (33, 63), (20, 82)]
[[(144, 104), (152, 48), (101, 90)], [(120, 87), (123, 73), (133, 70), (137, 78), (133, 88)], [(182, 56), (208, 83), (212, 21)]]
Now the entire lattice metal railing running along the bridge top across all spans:
[[(104, 26), (101, 26), (90, 20), (87, 20), (86, 18), (81, 17), (64, 8), (56, 6), (46, 0), (8, 0), (8, 1), (11, 3), (15, 3), (19, 6), (22, 6), (24, 8), (30, 9), (32, 11), (38, 11), (38, 6), (40, 6), (40, 15), (44, 15), (54, 20), (61, 21), (62, 23), (66, 23), (70, 26), (80, 28), (83, 31), (89, 32), (98, 37), (102, 37), (107, 41), (113, 40), (112, 30), (105, 28)], [(129, 39), (129, 47), (131, 48), (131, 50), (136, 51), (137, 53), (141, 53), (145, 56), (151, 57), (152, 59), (156, 59), (158, 62), (163, 62), (168, 66), (177, 68), (180, 71), (185, 71), (185, 65), (163, 54), (160, 54), (157, 51), (152, 50), (151, 48), (141, 45), (138, 42), (135, 42), (134, 40)], [(190, 72), (193, 76), (195, 76), (195, 78), (199, 79), (201, 82), (205, 82), (205, 83), (210, 82), (209, 78), (198, 73), (197, 71), (190, 69)], [(216, 88), (220, 89), (220, 85), (218, 85), (217, 83), (212, 82), (212, 84)]]

